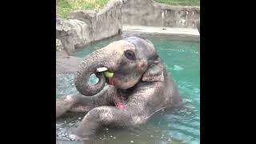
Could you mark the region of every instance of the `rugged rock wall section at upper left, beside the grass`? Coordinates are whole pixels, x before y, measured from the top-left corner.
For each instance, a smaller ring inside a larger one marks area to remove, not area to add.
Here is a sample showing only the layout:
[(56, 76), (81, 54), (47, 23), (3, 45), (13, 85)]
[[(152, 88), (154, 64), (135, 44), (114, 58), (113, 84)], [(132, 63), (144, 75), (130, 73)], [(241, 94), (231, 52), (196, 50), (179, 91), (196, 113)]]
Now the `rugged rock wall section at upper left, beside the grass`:
[[(70, 55), (74, 55), (75, 48), (109, 38), (121, 31), (122, 0), (110, 0), (98, 12), (76, 10), (67, 19), (56, 18), (56, 38)], [(61, 50), (58, 47), (56, 50)]]

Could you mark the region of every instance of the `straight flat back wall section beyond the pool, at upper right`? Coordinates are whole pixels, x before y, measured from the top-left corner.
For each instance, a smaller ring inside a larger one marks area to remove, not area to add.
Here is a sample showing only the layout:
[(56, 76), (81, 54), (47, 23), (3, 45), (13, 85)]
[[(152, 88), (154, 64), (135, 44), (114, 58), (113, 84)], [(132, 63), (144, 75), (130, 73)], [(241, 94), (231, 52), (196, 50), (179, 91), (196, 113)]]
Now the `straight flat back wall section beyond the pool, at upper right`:
[(124, 0), (122, 6), (123, 25), (196, 29), (198, 18), (198, 6), (167, 6), (153, 0)]

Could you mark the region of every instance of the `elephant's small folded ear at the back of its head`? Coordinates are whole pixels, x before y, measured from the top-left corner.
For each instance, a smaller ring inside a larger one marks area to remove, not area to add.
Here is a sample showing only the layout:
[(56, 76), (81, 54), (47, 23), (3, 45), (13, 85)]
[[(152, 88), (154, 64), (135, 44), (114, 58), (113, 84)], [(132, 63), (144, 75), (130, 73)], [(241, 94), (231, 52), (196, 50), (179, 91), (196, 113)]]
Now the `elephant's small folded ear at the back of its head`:
[(144, 82), (163, 82), (163, 66), (161, 61), (151, 64), (142, 76)]

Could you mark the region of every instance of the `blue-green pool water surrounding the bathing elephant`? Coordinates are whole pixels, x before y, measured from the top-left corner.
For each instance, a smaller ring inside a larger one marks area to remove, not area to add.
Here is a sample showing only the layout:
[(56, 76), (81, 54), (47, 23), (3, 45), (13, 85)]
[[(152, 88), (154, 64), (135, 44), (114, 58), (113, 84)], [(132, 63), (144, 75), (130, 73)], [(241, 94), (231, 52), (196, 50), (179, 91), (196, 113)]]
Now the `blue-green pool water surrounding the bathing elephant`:
[[(126, 37), (125, 34), (96, 42), (77, 50), (78, 57), (84, 57), (110, 42)], [(200, 143), (200, 44), (193, 40), (179, 40), (169, 36), (150, 36), (166, 70), (178, 85), (186, 105), (182, 108), (161, 110), (150, 121), (136, 130), (104, 129), (92, 143)], [(56, 76), (56, 95), (78, 93), (74, 88), (73, 75)], [(96, 82), (97, 78), (91, 78)], [(61, 143), (83, 143), (70, 141), (66, 131), (80, 122), (85, 114), (67, 115), (56, 121), (56, 138)], [(61, 139), (61, 140), (59, 140)]]

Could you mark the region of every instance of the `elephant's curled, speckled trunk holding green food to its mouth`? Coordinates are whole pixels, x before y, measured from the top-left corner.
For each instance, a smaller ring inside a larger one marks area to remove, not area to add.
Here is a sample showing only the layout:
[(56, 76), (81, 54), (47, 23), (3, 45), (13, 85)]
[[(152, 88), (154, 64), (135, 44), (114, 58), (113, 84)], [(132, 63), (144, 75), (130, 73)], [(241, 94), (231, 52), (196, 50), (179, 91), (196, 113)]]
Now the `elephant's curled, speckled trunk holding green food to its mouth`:
[[(116, 58), (118, 58), (118, 56), (112, 57), (114, 56), (113, 51), (114, 46), (110, 45), (86, 56), (78, 67), (78, 71), (74, 78), (74, 85), (78, 92), (85, 96), (93, 96), (103, 89), (106, 83), (106, 78), (103, 73), (98, 73), (96, 70), (99, 67), (107, 67), (110, 69), (117, 64)], [(89, 84), (91, 74), (95, 74), (99, 79), (98, 83), (95, 85)]]

